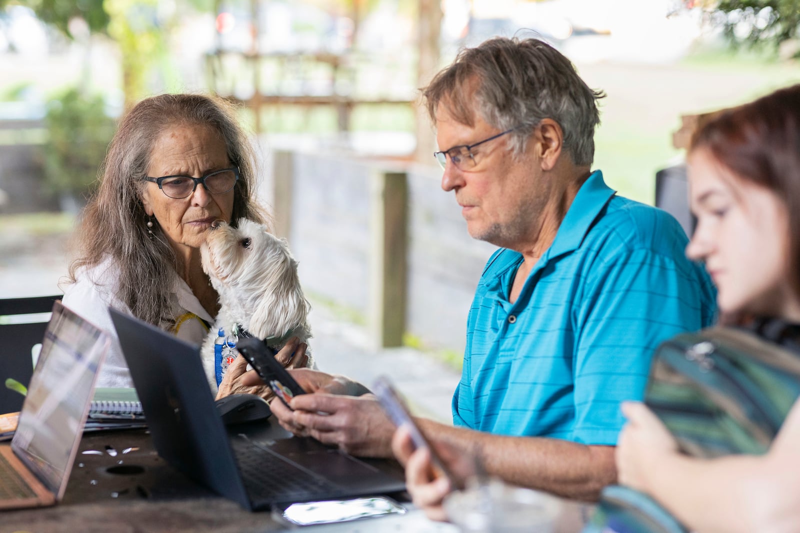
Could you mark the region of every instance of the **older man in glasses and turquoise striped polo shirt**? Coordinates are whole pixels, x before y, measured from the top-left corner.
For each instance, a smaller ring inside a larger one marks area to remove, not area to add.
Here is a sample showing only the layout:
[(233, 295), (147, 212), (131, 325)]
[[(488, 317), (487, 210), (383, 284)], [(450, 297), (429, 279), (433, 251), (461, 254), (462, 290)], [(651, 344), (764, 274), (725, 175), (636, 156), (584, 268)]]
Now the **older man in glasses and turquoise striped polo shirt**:
[[(616, 196), (591, 170), (602, 93), (551, 46), (496, 38), (463, 50), (423, 96), (442, 189), (470, 235), (500, 249), (470, 308), (455, 427), (419, 423), (450, 455), (477, 451), (490, 474), (594, 499), (614, 482), (619, 405), (642, 398), (654, 348), (712, 323), (710, 279), (686, 259), (677, 221)], [(312, 374), (295, 372), (319, 392), (365, 391)], [(298, 396), (294, 412), (273, 405), (294, 432), (386, 454), (388, 423), (371, 395)], [(401, 459), (409, 447), (396, 439)], [(407, 480), (441, 518), (450, 486), (424, 453)]]

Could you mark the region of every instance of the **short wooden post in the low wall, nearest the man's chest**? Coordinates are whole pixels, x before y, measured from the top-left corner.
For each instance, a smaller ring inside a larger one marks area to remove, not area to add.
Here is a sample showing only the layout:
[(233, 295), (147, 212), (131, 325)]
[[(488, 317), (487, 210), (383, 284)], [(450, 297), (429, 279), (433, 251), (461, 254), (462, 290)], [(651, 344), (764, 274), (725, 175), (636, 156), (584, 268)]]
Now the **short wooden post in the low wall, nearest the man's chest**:
[(380, 348), (402, 346), (408, 248), (406, 173), (376, 172), (370, 183), (370, 333)]

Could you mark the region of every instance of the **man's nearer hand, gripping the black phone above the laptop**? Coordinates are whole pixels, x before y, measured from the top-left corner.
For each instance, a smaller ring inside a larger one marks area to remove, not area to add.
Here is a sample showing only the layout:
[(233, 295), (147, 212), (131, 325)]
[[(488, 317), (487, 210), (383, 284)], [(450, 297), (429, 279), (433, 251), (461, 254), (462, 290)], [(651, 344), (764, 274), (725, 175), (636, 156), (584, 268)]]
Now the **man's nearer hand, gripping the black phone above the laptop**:
[[(293, 372), (294, 375), (295, 372)], [(323, 444), (362, 457), (389, 457), (394, 424), (371, 394), (339, 396), (317, 392), (295, 396), (286, 408), (272, 403), (272, 412), (287, 431), (311, 436)]]

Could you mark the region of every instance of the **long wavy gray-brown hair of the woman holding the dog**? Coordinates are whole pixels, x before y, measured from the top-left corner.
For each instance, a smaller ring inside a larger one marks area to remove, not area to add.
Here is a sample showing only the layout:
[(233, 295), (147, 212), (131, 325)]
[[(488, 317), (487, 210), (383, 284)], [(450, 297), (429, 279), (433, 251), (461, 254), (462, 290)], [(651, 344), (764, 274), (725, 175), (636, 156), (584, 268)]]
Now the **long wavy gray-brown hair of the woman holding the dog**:
[(251, 198), (256, 186), (254, 150), (230, 104), (201, 94), (162, 94), (130, 109), (111, 140), (100, 167), (98, 191), (77, 229), (78, 256), (70, 264), (67, 282), (74, 283), (81, 268), (111, 257), (119, 274), (115, 296), (134, 316), (156, 325), (175, 319), (170, 270), (175, 271), (176, 258), (158, 225), (152, 228), (152, 238), (147, 233), (140, 195), (155, 142), (174, 125), (206, 125), (218, 131), (230, 163), (239, 168), (231, 223), (240, 217), (267, 223), (266, 214)]

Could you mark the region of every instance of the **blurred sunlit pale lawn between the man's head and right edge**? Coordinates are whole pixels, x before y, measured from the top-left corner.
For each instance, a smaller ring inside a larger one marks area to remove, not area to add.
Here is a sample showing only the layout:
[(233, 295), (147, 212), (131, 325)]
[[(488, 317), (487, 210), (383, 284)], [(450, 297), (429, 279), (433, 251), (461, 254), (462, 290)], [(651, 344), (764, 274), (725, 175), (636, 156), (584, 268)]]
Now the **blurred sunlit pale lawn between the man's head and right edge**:
[(742, 104), (800, 82), (800, 63), (765, 54), (707, 50), (674, 65), (578, 65), (590, 87), (604, 89), (595, 165), (623, 196), (652, 203), (655, 173), (683, 150), (672, 147), (682, 114)]

